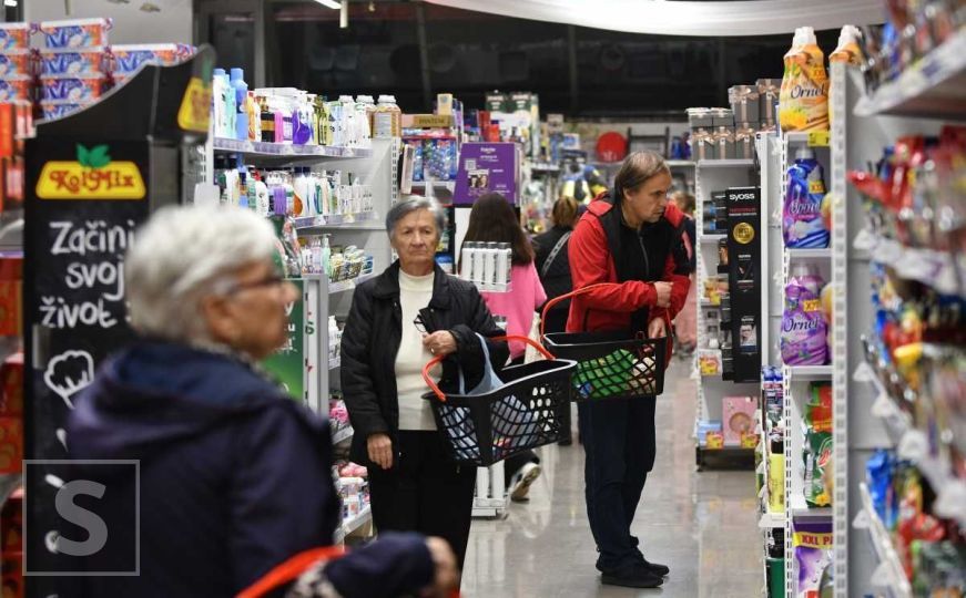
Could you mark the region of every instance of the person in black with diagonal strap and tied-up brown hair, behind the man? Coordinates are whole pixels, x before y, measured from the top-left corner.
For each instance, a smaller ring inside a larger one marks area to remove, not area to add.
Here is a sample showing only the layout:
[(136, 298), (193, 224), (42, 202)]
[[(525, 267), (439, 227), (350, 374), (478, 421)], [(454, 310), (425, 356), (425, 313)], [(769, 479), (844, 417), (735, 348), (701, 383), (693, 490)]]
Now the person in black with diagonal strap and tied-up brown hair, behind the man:
[[(553, 226), (546, 233), (533, 237), (533, 250), (536, 251), (537, 272), (540, 282), (547, 291), (547, 299), (555, 299), (573, 290), (573, 280), (570, 278), (570, 259), (567, 257), (567, 241), (573, 233), (577, 224), (578, 206), (576, 199), (563, 196), (553, 204), (551, 219)], [(543, 311), (540, 306), (539, 311)], [(570, 311), (570, 301), (561, 301), (546, 313), (543, 320), (545, 332), (565, 332), (567, 329), (567, 316)], [(570, 439), (570, 410), (565, 410), (561, 422), (568, 431), (567, 437), (560, 444), (568, 446)]]

